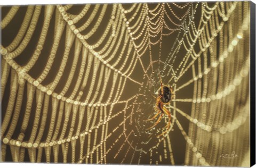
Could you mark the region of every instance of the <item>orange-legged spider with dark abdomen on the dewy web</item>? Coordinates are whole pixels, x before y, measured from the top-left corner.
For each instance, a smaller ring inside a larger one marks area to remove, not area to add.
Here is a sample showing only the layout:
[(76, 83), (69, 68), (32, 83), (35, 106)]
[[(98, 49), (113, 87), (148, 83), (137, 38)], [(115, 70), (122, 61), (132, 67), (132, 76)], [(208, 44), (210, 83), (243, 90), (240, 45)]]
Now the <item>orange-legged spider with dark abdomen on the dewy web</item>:
[(155, 110), (157, 111), (157, 113), (151, 119), (146, 120), (146, 121), (154, 120), (160, 114), (160, 116), (157, 119), (157, 121), (155, 122), (155, 124), (148, 128), (148, 129), (151, 129), (151, 128), (155, 127), (161, 121), (164, 114), (166, 114), (169, 117), (169, 121), (164, 127), (164, 128), (166, 128), (166, 130), (161, 135), (158, 135), (157, 137), (163, 136), (170, 128), (171, 113), (169, 110), (167, 110), (167, 108), (164, 105), (170, 104), (171, 100), (174, 98), (174, 93), (173, 93), (172, 87), (170, 87), (170, 85), (169, 86), (164, 85), (160, 75), (159, 75), (159, 79), (160, 79), (161, 88), (158, 90), (157, 97), (155, 97), (153, 95), (156, 98)]

